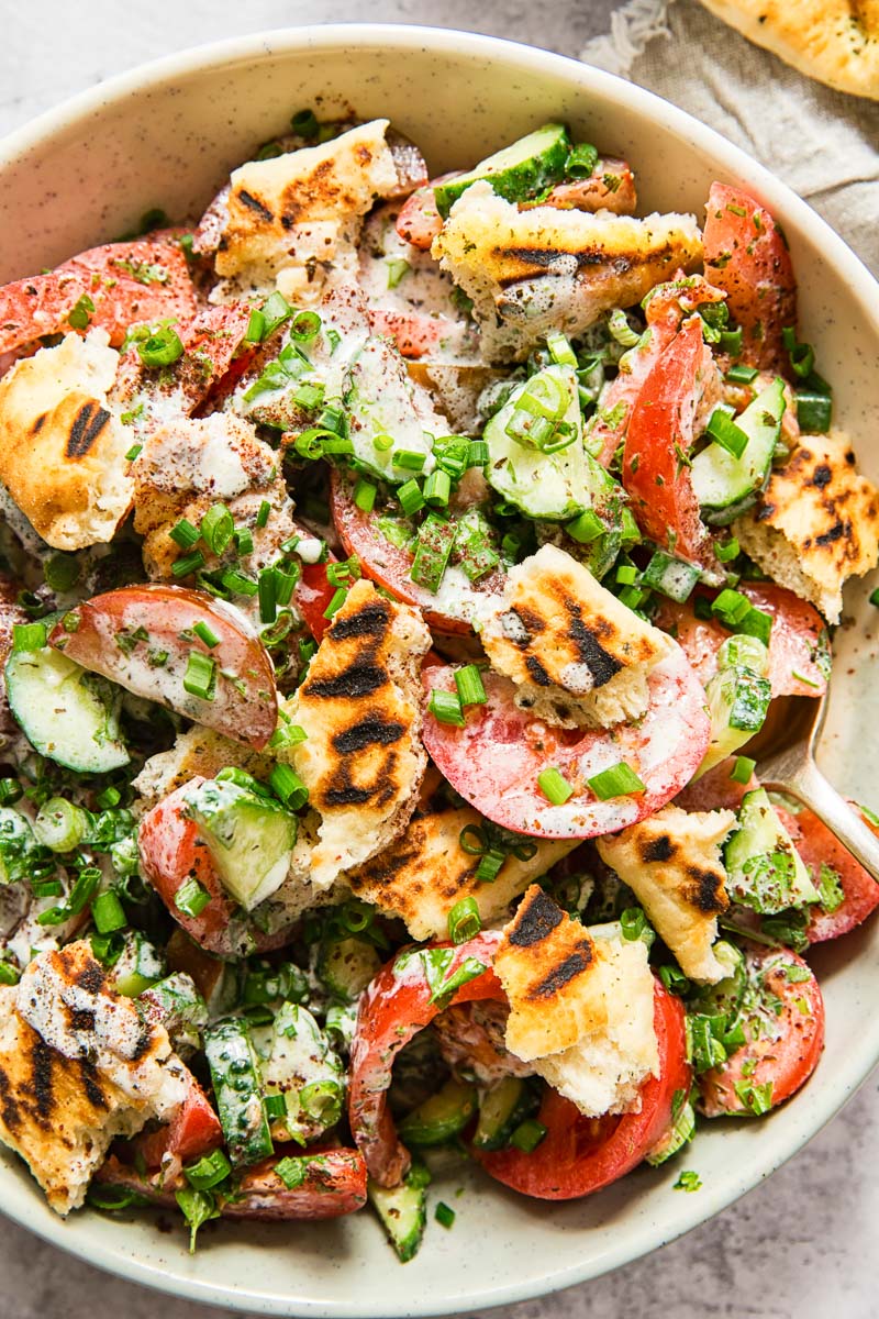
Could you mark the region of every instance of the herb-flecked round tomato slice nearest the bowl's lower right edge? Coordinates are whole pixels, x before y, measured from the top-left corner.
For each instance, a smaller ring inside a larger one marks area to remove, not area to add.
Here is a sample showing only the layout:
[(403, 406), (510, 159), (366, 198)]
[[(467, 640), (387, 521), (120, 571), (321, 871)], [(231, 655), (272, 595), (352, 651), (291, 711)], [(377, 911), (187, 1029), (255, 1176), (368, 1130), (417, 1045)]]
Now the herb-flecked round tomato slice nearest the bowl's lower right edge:
[(789, 948), (754, 948), (746, 954), (746, 967), (762, 1009), (746, 1013), (747, 1043), (698, 1078), (698, 1108), (706, 1117), (752, 1113), (737, 1086), (771, 1084), (775, 1108), (809, 1079), (824, 1049), (824, 998), (803, 958)]

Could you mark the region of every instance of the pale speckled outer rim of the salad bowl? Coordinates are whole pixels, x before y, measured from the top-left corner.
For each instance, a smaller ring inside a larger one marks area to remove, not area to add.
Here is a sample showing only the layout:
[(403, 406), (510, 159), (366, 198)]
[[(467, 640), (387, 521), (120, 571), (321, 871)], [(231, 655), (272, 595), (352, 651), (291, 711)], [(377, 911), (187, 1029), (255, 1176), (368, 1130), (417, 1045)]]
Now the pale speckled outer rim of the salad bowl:
[[(660, 131), (671, 131), (689, 137), (695, 146), (710, 154), (723, 170), (738, 175), (752, 186), (762, 200), (780, 219), (795, 218), (809, 237), (820, 240), (826, 260), (845, 278), (853, 302), (861, 306), (865, 321), (875, 330), (879, 343), (879, 284), (866, 266), (826, 222), (816, 215), (789, 187), (714, 129), (652, 92), (576, 59), (518, 42), (451, 28), (403, 24), (329, 24), (270, 30), (196, 46), (101, 82), (0, 138), (0, 166), (25, 157), (32, 148), (61, 131), (69, 132), (78, 127), (84, 131), (90, 116), (100, 108), (111, 103), (124, 102), (130, 94), (169, 77), (186, 78), (210, 67), (231, 66), (242, 59), (289, 50), (315, 51), (351, 49), (361, 44), (374, 45), (377, 38), (381, 40), (381, 45), (386, 50), (405, 53), (419, 49), (443, 53), (447, 58), (460, 54), (463, 58), (480, 57), (486, 61), (497, 61), (522, 74), (544, 71), (568, 80), (572, 87), (588, 87), (593, 96), (606, 98), (611, 103), (625, 102), (637, 112), (650, 116)], [(395, 1316), (403, 1319), (403, 1316), (443, 1315), (459, 1311), (463, 1299), (472, 1308), (513, 1304), (540, 1294), (563, 1290), (618, 1269), (705, 1223), (803, 1149), (847, 1103), (878, 1062), (879, 1014), (874, 1014), (861, 1033), (857, 1046), (850, 1051), (845, 1070), (838, 1070), (832, 1080), (825, 1080), (820, 1087), (808, 1087), (797, 1099), (797, 1105), (803, 1108), (804, 1121), (780, 1136), (774, 1145), (770, 1159), (763, 1159), (759, 1166), (731, 1173), (722, 1186), (718, 1183), (704, 1186), (697, 1196), (680, 1196), (679, 1206), (668, 1215), (667, 1221), (662, 1224), (638, 1223), (634, 1227), (627, 1227), (625, 1232), (621, 1232), (618, 1245), (605, 1250), (600, 1258), (553, 1269), (547, 1273), (539, 1286), (532, 1279), (517, 1282), (511, 1277), (503, 1285), (490, 1290), (473, 1287), (465, 1298), (459, 1293), (455, 1298), (414, 1297), (406, 1304), (387, 1304), (378, 1298), (357, 1297), (357, 1273), (356, 1269), (352, 1269), (352, 1298), (344, 1303), (308, 1301), (295, 1295), (268, 1297), (265, 1293), (248, 1291), (246, 1282), (241, 1289), (229, 1289), (216, 1286), (206, 1279), (161, 1273), (137, 1258), (105, 1248), (100, 1231), (95, 1231), (87, 1241), (59, 1239), (53, 1235), (51, 1223), (37, 1212), (38, 1202), (32, 1195), (22, 1194), (17, 1184), (4, 1187), (0, 1210), (37, 1236), (99, 1269), (154, 1290), (204, 1304), (271, 1315), (295, 1312), (315, 1316), (315, 1319), (324, 1319), (324, 1316), (326, 1319), (341, 1319), (341, 1316), (345, 1319), (374, 1319), (378, 1315), (382, 1319), (395, 1319)], [(807, 1115), (808, 1121), (805, 1120)]]

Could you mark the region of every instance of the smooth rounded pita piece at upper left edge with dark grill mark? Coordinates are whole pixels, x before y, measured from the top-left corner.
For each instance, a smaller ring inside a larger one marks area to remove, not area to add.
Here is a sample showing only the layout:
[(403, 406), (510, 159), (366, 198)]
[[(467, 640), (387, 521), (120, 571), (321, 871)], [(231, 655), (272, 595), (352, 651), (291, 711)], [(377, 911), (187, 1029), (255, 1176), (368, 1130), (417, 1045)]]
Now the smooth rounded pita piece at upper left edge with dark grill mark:
[(0, 480), (53, 549), (111, 541), (129, 509), (130, 439), (107, 408), (117, 361), (105, 330), (69, 334), (0, 381)]

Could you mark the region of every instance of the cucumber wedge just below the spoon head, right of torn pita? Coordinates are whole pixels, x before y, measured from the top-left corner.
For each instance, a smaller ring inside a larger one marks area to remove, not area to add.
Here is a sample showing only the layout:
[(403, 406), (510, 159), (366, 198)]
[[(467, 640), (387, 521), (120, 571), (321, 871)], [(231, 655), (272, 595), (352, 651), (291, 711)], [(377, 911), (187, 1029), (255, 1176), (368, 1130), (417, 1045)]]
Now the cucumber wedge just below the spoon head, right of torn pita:
[(766, 789), (745, 794), (738, 819), (739, 827), (723, 848), (733, 901), (760, 915), (818, 902), (818, 890)]

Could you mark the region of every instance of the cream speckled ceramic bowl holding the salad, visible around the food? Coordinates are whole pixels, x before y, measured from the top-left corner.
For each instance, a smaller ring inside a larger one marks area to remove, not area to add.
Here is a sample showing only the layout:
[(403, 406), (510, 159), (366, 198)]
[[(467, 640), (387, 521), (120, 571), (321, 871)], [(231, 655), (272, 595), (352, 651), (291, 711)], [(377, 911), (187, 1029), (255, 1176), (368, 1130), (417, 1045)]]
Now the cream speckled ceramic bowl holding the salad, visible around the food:
[[(700, 212), (714, 178), (742, 182), (783, 222), (800, 281), (801, 323), (837, 390), (837, 417), (863, 466), (879, 414), (879, 286), (813, 211), (717, 133), (655, 96), (575, 61), (486, 37), (415, 26), (328, 26), (246, 37), (175, 55), (90, 91), (0, 142), (0, 281), (30, 274), (129, 228), (152, 206), (198, 215), (229, 168), (283, 129), (293, 111), (389, 116), (434, 173), (469, 165), (548, 119), (626, 156), (642, 207)], [(879, 806), (879, 739), (868, 708), (866, 591), (841, 632), (824, 764)], [(863, 662), (862, 662), (863, 661)], [(858, 665), (861, 666), (858, 670)], [(851, 673), (850, 670), (855, 670)], [(872, 794), (872, 795), (871, 795)], [(759, 1122), (717, 1122), (685, 1155), (704, 1182), (672, 1190), (676, 1167), (643, 1170), (593, 1199), (526, 1200), (457, 1171), (401, 1268), (368, 1213), (327, 1225), (231, 1225), (183, 1232), (91, 1212), (62, 1223), (17, 1159), (0, 1155), (0, 1206), (66, 1250), (177, 1295), (273, 1315), (434, 1315), (522, 1301), (614, 1269), (672, 1240), (750, 1190), (799, 1150), (879, 1059), (879, 923), (818, 950), (828, 1046), (792, 1103)], [(455, 1190), (464, 1186), (464, 1195)], [(759, 1211), (759, 1206), (758, 1206)], [(767, 1223), (767, 1232), (772, 1224)]]

